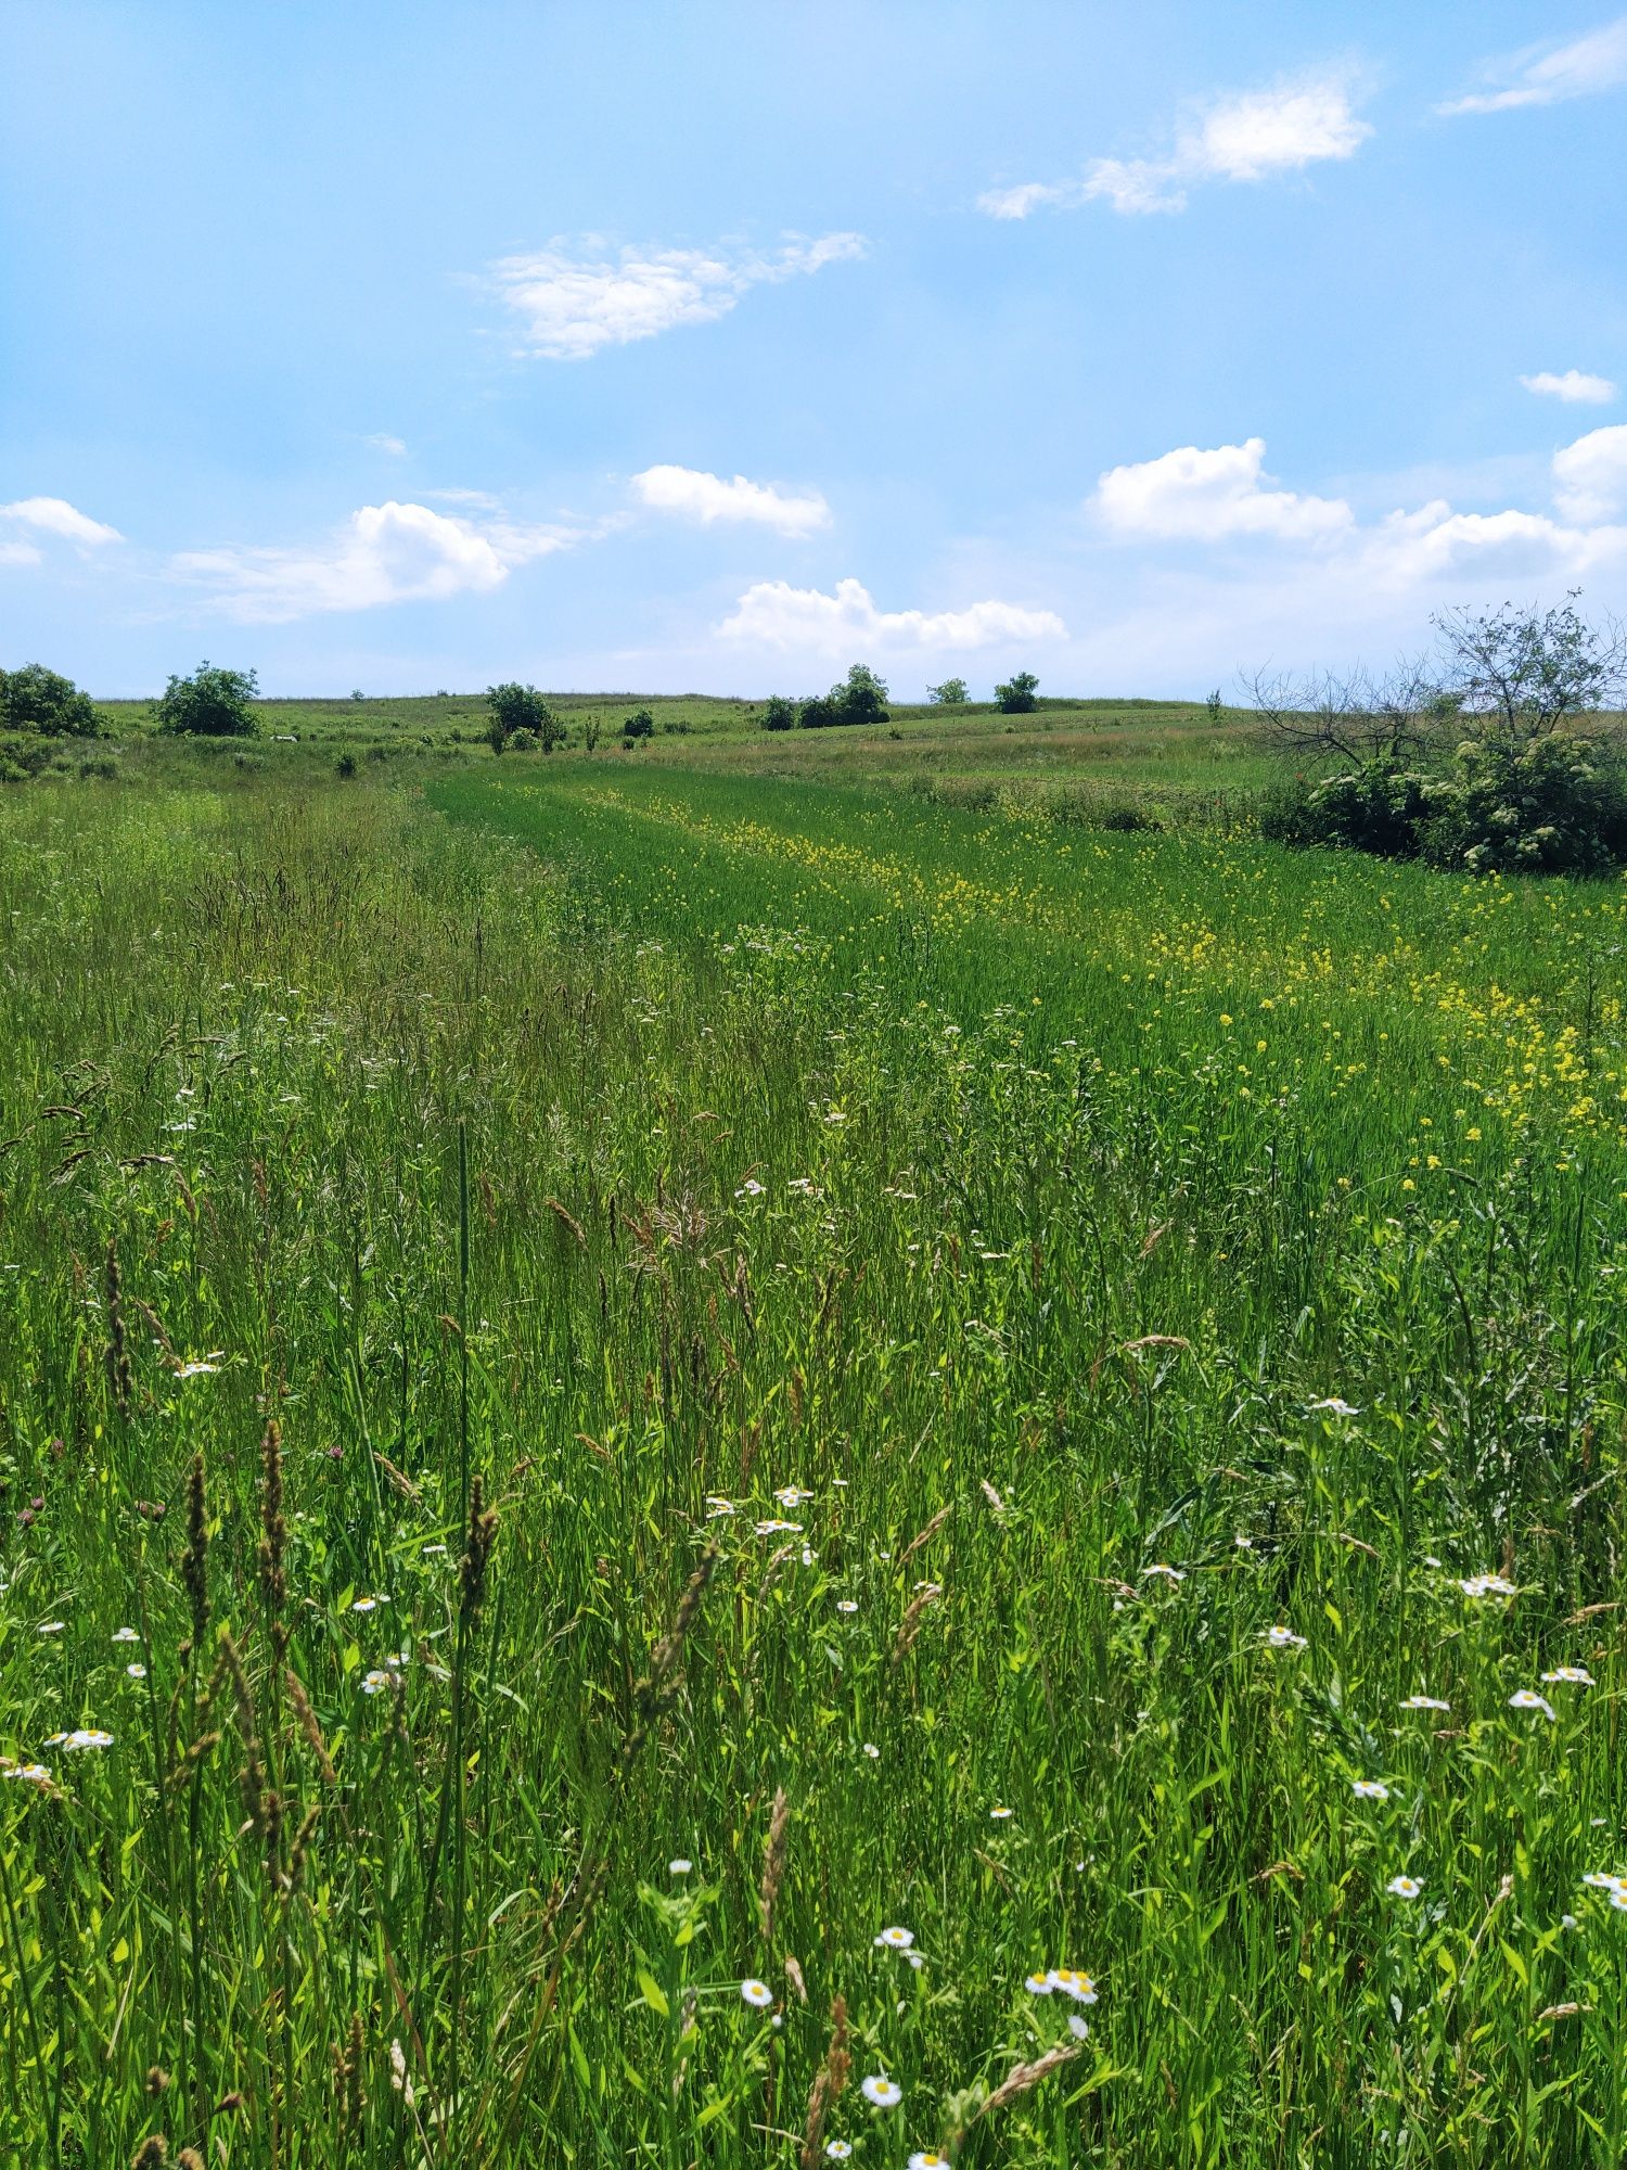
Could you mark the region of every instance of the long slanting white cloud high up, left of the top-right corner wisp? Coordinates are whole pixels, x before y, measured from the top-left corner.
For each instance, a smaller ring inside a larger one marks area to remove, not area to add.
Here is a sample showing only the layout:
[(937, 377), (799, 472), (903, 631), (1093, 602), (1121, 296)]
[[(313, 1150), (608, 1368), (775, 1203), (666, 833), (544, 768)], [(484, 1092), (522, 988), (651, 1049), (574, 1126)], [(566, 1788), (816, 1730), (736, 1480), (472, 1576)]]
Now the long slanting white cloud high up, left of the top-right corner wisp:
[(1210, 180), (1269, 180), (1323, 158), (1351, 158), (1371, 137), (1343, 72), (1295, 76), (1193, 108), (1163, 158), (1093, 158), (1076, 180), (1028, 180), (989, 189), (991, 219), (1026, 219), (1041, 204), (1109, 202), (1126, 215), (1184, 210), (1187, 191)]

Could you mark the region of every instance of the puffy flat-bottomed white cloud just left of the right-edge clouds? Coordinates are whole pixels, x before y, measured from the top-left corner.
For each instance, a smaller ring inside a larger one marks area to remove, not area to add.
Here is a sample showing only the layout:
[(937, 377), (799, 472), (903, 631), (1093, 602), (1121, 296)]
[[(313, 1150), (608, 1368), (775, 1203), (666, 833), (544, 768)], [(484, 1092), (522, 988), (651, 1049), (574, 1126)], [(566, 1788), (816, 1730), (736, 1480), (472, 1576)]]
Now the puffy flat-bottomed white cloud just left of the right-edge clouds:
[(1265, 438), (1182, 445), (1156, 460), (1111, 467), (1096, 484), (1093, 506), (1124, 536), (1224, 542), (1232, 536), (1276, 536), (1284, 542), (1328, 542), (1354, 514), (1343, 497), (1299, 497), (1267, 488)]

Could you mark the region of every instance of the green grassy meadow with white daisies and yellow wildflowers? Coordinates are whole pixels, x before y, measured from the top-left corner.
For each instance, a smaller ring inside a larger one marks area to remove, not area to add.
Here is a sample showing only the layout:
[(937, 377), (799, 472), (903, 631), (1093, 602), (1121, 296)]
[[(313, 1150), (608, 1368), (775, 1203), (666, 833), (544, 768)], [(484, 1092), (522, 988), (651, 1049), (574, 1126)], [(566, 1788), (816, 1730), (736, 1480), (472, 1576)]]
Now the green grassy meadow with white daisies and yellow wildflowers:
[(330, 707), (0, 794), (0, 2159), (1618, 2170), (1627, 892)]

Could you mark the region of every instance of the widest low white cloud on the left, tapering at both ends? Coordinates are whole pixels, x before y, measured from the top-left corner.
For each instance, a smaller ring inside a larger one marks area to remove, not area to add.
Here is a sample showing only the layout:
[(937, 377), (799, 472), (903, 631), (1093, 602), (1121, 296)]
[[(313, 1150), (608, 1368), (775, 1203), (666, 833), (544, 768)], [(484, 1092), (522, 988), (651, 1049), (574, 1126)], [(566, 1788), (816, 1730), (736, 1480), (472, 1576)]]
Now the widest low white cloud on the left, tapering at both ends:
[(362, 506), (328, 542), (308, 549), (182, 551), (171, 571), (210, 595), (226, 616), (282, 625), (325, 610), (438, 601), (499, 588), (516, 564), (566, 549), (553, 527), (473, 521), (430, 506)]

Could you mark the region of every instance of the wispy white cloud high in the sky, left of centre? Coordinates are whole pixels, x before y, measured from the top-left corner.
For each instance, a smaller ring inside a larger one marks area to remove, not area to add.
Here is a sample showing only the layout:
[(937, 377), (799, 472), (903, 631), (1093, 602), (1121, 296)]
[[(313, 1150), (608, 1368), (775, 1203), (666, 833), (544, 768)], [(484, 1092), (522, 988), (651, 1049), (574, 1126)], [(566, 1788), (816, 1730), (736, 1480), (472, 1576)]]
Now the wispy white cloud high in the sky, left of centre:
[(655, 339), (679, 323), (712, 323), (751, 286), (779, 284), (863, 256), (863, 234), (787, 241), (772, 256), (731, 250), (640, 250), (616, 254), (551, 243), (534, 256), (490, 267), (499, 297), (523, 321), (525, 349), (577, 362), (601, 347)]

